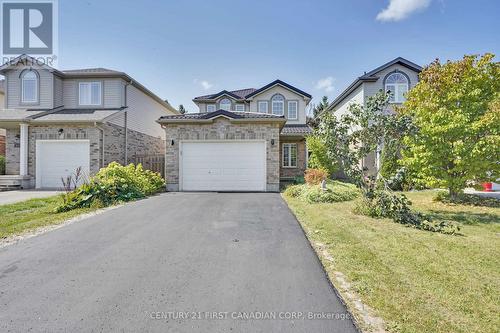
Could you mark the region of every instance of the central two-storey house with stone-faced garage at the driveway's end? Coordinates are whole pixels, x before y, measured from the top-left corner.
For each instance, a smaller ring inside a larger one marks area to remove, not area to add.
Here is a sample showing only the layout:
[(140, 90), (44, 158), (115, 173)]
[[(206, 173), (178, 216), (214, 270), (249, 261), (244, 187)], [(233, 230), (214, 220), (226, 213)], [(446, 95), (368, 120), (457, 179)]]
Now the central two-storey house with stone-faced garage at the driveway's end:
[(199, 113), (165, 116), (167, 188), (279, 191), (307, 167), (311, 95), (280, 80), (193, 100)]

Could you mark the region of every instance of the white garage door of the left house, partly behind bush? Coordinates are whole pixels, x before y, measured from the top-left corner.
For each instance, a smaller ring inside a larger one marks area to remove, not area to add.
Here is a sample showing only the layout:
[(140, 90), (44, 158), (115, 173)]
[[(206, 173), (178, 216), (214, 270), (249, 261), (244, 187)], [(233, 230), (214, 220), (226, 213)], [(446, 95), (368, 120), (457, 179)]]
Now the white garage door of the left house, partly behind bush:
[(78, 167), (88, 177), (89, 161), (88, 140), (37, 140), (36, 187), (61, 188), (61, 178), (74, 174)]

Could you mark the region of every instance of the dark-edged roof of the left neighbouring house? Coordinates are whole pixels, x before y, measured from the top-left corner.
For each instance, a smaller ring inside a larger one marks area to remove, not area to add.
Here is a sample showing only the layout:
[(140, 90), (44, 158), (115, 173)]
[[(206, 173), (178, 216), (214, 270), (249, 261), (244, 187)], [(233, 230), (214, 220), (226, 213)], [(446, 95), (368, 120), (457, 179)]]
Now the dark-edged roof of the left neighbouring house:
[(137, 89), (141, 90), (143, 93), (154, 99), (156, 102), (161, 104), (163, 107), (168, 109), (169, 111), (173, 113), (179, 113), (176, 109), (172, 107), (168, 102), (165, 102), (163, 99), (158, 97), (155, 93), (153, 93), (151, 90), (143, 86), (141, 83), (137, 82), (132, 78), (130, 75), (128, 75), (125, 72), (119, 72), (115, 71), (112, 69), (107, 69), (107, 68), (83, 68), (83, 69), (71, 69), (71, 70), (57, 70), (49, 65), (46, 64), (40, 64), (35, 58), (22, 54), (2, 66), (0, 66), (0, 73), (3, 74), (6, 70), (11, 69), (12, 67), (17, 66), (20, 62), (23, 61), (29, 61), (32, 64), (38, 64), (40, 67), (47, 69), (50, 72), (53, 72), (57, 74), (58, 76), (62, 78), (121, 78), (127, 82), (129, 82), (131, 85), (136, 87)]

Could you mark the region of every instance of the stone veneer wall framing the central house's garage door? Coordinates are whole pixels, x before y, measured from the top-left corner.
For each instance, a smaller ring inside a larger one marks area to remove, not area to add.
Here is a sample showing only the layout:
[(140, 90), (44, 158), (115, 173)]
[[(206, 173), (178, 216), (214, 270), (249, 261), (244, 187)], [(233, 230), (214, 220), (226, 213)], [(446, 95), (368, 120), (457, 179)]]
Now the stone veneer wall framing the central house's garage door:
[[(279, 191), (279, 125), (276, 123), (231, 123), (218, 118), (210, 124), (168, 124), (165, 126), (167, 145), (165, 175), (167, 189), (179, 190), (179, 141), (180, 140), (266, 140), (267, 141), (267, 191)], [(271, 140), (274, 139), (274, 145)]]

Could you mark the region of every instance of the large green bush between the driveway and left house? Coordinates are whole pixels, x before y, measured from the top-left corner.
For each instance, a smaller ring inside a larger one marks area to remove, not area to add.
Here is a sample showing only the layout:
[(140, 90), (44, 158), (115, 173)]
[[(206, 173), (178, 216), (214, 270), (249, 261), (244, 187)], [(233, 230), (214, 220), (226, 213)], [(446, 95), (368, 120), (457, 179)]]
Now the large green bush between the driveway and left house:
[(119, 202), (144, 198), (164, 189), (158, 173), (144, 170), (141, 164), (122, 166), (112, 162), (74, 191), (64, 195), (57, 212), (81, 207), (106, 207)]

